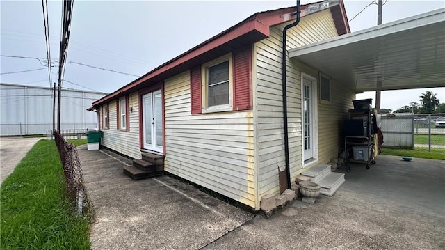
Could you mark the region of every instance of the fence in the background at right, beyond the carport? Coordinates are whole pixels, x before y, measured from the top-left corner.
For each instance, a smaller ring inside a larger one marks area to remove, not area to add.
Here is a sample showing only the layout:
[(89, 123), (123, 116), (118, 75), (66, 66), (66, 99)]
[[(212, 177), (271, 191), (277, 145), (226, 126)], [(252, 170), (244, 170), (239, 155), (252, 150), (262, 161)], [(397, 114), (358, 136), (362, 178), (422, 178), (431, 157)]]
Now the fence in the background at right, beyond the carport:
[(445, 114), (387, 114), (380, 116), (379, 125), (384, 147), (438, 148), (445, 153)]

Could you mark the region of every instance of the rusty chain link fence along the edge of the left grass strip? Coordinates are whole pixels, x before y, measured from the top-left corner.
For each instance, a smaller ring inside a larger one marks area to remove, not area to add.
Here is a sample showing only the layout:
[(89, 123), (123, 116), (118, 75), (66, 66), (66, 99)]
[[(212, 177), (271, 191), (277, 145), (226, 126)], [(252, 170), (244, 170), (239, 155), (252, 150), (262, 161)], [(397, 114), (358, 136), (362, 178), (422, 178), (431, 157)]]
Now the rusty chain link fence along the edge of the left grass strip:
[(83, 182), (83, 174), (79, 155), (74, 143), (68, 143), (63, 136), (55, 131), (54, 140), (60, 155), (65, 174), (66, 193), (70, 201), (70, 209), (78, 215), (87, 212), (91, 208), (86, 187)]

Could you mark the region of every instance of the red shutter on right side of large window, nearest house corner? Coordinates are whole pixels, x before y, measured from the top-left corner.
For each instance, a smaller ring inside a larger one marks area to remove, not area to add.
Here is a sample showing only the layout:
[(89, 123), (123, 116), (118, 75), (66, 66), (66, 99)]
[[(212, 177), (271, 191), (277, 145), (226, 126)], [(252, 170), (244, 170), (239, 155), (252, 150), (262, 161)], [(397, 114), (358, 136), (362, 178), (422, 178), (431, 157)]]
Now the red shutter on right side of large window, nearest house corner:
[(252, 49), (234, 53), (234, 110), (252, 109)]

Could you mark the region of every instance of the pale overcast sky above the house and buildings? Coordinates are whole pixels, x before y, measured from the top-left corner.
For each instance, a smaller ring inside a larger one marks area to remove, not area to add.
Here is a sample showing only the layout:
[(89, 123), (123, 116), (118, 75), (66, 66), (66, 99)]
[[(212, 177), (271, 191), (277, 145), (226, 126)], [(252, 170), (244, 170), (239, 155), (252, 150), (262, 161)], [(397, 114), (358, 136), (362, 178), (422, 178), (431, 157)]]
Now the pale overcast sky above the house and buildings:
[[(301, 1), (311, 2), (316, 0)], [(368, 6), (371, 0), (344, 3), (351, 32), (377, 24), (378, 6)], [(445, 7), (445, 1), (434, 0), (384, 0), (384, 3), (383, 24)], [(75, 0), (63, 87), (111, 93), (256, 12), (295, 5), (296, 1)], [(47, 61), (42, 1), (0, 0), (0, 13), (1, 83), (51, 86), (58, 79), (58, 68), (52, 68), (52, 81), (48, 70), (42, 69)], [(49, 0), (50, 53), (51, 61), (55, 62), (61, 13), (62, 1)], [(4, 56), (35, 57), (41, 62)], [(25, 70), (35, 71), (10, 73)], [(419, 96), (426, 91), (436, 93), (445, 102), (445, 88), (382, 91), (381, 107), (395, 110), (419, 102)], [(357, 99), (363, 98), (375, 100), (375, 93), (357, 95)]]

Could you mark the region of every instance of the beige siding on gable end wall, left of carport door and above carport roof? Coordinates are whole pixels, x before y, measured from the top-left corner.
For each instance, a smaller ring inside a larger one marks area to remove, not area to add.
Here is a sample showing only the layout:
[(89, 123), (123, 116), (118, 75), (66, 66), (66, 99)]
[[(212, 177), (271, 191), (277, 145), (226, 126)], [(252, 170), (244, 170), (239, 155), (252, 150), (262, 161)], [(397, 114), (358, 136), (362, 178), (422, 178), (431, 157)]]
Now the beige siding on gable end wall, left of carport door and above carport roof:
[[(289, 22), (290, 23), (290, 22)], [(286, 24), (289, 24), (286, 23)], [(256, 68), (257, 152), (259, 196), (279, 190), (278, 169), (283, 171), (284, 135), (282, 113), (282, 30), (286, 24), (270, 28), (270, 37), (254, 45)], [(302, 17), (287, 33), (287, 49), (309, 45), (337, 36), (330, 10)], [(302, 168), (302, 118), (300, 69), (287, 58), (287, 103), (291, 178)], [(316, 77), (316, 76), (315, 76)], [(320, 130), (320, 128), (319, 128)], [(321, 134), (319, 135), (321, 136)], [(336, 146), (337, 147), (337, 146)]]

